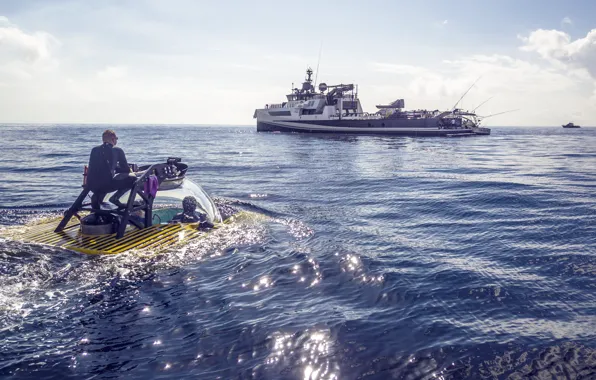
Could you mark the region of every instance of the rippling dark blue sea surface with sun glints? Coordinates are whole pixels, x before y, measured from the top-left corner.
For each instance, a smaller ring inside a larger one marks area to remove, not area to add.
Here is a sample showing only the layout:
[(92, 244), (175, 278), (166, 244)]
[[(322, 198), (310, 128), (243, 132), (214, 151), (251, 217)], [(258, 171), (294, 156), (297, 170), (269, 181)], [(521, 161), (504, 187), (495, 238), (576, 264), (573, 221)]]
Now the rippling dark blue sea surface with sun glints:
[(0, 238), (0, 378), (596, 378), (596, 128), (3, 125), (0, 228), (60, 215), (108, 127), (256, 216), (151, 256)]

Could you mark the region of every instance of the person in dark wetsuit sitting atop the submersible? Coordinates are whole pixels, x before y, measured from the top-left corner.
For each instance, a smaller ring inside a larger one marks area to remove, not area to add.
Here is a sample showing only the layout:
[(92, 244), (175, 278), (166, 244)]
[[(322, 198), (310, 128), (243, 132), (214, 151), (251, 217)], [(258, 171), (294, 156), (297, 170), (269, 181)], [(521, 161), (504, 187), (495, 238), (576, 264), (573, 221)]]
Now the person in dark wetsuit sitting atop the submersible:
[(103, 144), (93, 148), (89, 156), (87, 187), (93, 192), (91, 207), (99, 209), (106, 194), (116, 191), (110, 202), (124, 208), (119, 199), (134, 186), (136, 176), (128, 167), (124, 151), (115, 146), (118, 143), (116, 132), (107, 129), (101, 138)]

